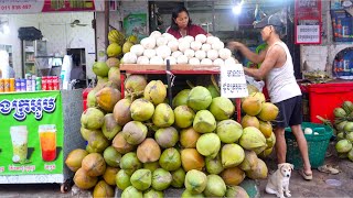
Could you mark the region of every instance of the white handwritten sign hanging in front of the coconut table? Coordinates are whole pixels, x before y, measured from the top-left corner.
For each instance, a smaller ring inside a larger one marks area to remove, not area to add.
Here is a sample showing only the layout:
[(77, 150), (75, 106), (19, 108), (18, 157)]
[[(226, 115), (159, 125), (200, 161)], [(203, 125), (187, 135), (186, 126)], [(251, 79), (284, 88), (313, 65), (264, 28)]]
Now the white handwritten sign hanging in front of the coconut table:
[(242, 64), (221, 67), (221, 96), (225, 98), (244, 98), (248, 96)]

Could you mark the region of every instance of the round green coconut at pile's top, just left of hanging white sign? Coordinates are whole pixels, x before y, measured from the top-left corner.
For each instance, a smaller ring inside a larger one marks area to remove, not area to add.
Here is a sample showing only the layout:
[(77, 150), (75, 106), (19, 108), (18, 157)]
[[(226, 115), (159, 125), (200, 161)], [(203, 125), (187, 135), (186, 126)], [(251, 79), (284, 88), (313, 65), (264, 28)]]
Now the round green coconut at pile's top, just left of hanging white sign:
[(195, 111), (207, 109), (211, 102), (211, 92), (205, 87), (196, 86), (189, 92), (188, 106)]

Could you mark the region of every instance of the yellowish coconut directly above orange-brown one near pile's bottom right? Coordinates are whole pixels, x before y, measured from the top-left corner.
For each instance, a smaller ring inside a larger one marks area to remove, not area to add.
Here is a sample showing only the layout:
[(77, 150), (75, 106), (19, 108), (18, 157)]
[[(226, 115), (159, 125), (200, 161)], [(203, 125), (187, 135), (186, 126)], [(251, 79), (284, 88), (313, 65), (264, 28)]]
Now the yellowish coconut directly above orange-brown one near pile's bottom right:
[(238, 144), (225, 144), (221, 151), (221, 158), (224, 168), (235, 167), (244, 161), (245, 152)]

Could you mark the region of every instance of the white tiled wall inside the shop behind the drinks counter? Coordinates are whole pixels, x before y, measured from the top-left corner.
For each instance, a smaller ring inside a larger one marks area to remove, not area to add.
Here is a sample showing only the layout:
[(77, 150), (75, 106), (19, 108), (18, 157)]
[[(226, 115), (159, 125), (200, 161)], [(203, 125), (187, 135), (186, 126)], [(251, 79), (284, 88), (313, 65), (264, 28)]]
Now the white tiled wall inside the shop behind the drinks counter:
[[(9, 18), (10, 34), (0, 35), (1, 44), (13, 45), (13, 61), (17, 77), (21, 76), (21, 42), (18, 38), (18, 29), (34, 26), (42, 31), (47, 40), (50, 54), (66, 54), (66, 48), (85, 48), (87, 76), (93, 78), (92, 65), (95, 59), (95, 36), (92, 29), (93, 12), (11, 14)], [(86, 26), (71, 28), (68, 23), (79, 20)]]

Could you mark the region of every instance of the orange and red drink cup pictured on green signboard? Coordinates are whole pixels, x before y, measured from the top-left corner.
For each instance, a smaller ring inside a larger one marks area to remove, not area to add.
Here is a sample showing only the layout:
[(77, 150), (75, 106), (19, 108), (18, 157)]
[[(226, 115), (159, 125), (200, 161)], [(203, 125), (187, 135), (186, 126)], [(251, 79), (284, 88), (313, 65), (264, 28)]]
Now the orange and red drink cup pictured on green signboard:
[(55, 124), (43, 124), (39, 127), (42, 158), (51, 162), (56, 158), (56, 127)]

